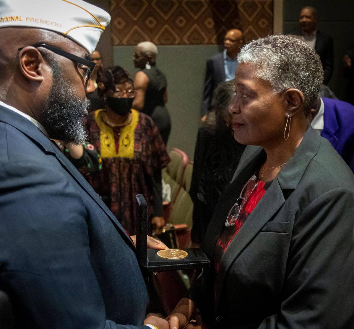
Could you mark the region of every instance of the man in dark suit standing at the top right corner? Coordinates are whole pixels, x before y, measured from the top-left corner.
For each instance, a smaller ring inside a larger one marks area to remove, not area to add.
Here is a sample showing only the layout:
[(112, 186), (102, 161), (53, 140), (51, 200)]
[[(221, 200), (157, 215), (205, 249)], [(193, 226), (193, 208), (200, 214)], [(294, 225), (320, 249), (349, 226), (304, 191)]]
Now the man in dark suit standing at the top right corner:
[(323, 84), (327, 85), (333, 73), (333, 38), (317, 30), (317, 22), (318, 15), (314, 7), (302, 8), (299, 19), (302, 40), (320, 56), (324, 71)]

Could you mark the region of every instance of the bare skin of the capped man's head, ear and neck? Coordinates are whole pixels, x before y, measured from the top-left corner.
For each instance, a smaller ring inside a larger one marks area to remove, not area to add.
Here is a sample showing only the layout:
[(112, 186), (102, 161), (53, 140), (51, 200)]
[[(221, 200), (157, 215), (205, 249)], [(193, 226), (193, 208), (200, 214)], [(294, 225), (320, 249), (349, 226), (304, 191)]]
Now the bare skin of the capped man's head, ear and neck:
[[(48, 30), (2, 28), (0, 38), (4, 44), (0, 54), (0, 100), (40, 122), (52, 85), (52, 69), (42, 54), (49, 54), (50, 51), (30, 45), (48, 43), (80, 57), (84, 57), (87, 51), (69, 38)], [(20, 47), (24, 48), (18, 52)], [(75, 94), (85, 100), (86, 92), (95, 90), (93, 84), (90, 82), (85, 86), (82, 74), (73, 61), (54, 53), (50, 55)]]

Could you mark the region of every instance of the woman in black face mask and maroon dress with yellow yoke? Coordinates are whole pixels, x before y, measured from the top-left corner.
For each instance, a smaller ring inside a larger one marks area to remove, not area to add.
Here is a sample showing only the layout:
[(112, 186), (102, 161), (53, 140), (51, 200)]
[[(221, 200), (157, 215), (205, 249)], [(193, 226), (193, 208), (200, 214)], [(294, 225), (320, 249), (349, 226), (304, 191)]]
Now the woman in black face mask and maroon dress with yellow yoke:
[(90, 114), (87, 129), (102, 170), (87, 179), (129, 234), (137, 231), (139, 193), (148, 202), (152, 224), (160, 228), (161, 169), (170, 161), (165, 144), (152, 119), (131, 108), (133, 81), (123, 68), (106, 69), (97, 84), (105, 107)]

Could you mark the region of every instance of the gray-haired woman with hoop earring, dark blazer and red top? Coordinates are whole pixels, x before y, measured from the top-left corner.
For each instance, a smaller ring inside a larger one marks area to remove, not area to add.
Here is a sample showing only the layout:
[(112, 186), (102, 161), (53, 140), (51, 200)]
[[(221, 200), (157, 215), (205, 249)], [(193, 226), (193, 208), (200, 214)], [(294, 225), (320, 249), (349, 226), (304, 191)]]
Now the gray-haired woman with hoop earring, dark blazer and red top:
[(211, 267), (170, 328), (190, 326), (196, 307), (212, 328), (353, 328), (354, 176), (309, 125), (320, 58), (268, 36), (238, 61), (229, 111), (249, 146), (207, 228)]

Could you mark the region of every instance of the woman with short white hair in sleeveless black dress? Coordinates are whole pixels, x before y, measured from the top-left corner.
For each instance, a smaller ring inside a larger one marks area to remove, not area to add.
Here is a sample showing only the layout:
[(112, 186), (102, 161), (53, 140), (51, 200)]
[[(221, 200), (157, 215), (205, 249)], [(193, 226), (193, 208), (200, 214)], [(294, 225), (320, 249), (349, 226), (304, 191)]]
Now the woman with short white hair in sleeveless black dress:
[(156, 67), (157, 53), (157, 47), (150, 41), (140, 42), (135, 48), (134, 65), (141, 71), (134, 79), (136, 94), (133, 108), (151, 116), (167, 144), (171, 131), (170, 114), (165, 107), (167, 81), (165, 74)]

